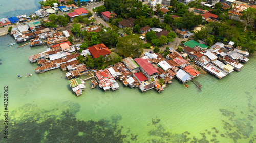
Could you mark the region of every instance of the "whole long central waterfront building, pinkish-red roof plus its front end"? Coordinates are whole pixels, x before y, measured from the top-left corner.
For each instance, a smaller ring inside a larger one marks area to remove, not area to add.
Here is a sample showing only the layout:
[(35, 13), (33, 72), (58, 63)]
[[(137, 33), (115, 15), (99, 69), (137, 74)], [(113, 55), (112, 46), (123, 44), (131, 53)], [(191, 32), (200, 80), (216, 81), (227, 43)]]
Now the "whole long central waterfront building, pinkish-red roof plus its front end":
[(147, 78), (155, 78), (158, 76), (158, 71), (151, 63), (143, 58), (136, 58), (134, 61), (140, 66), (140, 70)]

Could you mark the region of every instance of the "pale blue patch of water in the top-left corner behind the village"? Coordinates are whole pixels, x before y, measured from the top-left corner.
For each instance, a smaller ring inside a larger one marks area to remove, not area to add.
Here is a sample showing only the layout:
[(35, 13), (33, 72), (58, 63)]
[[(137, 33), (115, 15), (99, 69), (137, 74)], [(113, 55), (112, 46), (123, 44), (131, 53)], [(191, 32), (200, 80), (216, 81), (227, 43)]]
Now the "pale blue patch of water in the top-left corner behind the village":
[(12, 0), (12, 1), (0, 1), (0, 19), (6, 17), (17, 16), (26, 14), (27, 16), (31, 13), (35, 13), (39, 9), (40, 0)]

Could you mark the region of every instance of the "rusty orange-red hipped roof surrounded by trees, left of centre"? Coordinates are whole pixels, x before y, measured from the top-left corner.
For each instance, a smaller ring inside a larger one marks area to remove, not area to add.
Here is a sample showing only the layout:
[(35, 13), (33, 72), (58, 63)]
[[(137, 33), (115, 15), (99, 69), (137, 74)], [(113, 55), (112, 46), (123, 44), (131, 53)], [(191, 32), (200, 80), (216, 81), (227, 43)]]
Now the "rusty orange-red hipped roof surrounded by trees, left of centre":
[(97, 44), (92, 47), (89, 47), (88, 50), (91, 52), (94, 58), (98, 58), (100, 55), (108, 55), (111, 53), (108, 47), (104, 44)]

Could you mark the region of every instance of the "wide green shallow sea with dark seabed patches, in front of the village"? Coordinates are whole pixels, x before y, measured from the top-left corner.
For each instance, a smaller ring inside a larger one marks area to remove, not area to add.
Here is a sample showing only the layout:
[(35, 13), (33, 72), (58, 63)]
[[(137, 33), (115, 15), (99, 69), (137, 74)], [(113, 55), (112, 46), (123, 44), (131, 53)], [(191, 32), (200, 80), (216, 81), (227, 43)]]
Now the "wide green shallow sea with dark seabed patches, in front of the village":
[[(12, 42), (10, 35), (0, 37), (0, 106), (4, 102), (3, 86), (8, 85), (10, 123), (14, 124), (9, 127), (7, 142), (256, 142), (255, 56), (249, 57), (240, 72), (221, 80), (210, 74), (197, 77), (202, 92), (193, 83), (185, 88), (176, 79), (161, 94), (154, 90), (142, 93), (121, 84), (117, 91), (103, 92), (91, 89), (88, 81), (86, 91), (76, 97), (60, 69), (34, 72), (38, 65), (31, 64), (28, 56), (45, 51), (46, 46), (8, 47)], [(26, 78), (28, 73), (33, 75)], [(23, 77), (18, 79), (17, 74)], [(66, 110), (72, 116), (63, 113)], [(2, 119), (2, 108), (0, 113)], [(96, 130), (99, 126), (109, 134)], [(2, 135), (0, 142), (6, 142)]]

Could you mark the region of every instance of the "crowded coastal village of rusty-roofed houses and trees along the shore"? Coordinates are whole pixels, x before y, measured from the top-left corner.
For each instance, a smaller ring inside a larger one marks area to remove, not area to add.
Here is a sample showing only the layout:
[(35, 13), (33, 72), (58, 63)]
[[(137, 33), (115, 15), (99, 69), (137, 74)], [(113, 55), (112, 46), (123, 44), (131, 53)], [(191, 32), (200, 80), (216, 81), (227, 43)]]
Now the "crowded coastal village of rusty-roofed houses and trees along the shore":
[[(86, 80), (91, 80), (89, 86), (92, 89), (99, 87), (103, 91), (118, 90), (121, 83), (141, 92), (155, 89), (161, 93), (164, 88), (172, 88), (169, 86), (172, 80), (180, 81), (185, 88), (189, 88), (187, 82), (193, 82), (200, 91), (202, 85), (195, 80), (200, 74), (208, 72), (216, 78), (224, 78), (232, 72), (239, 72), (249, 61), (249, 54), (253, 53), (243, 48), (244, 43), (239, 45), (232, 36), (228, 38), (228, 35), (215, 32), (215, 38), (212, 32), (202, 37), (200, 30), (193, 31), (184, 23), (183, 26), (170, 26), (182, 19), (182, 15), (176, 13), (178, 8), (168, 0), (134, 2), (133, 7), (126, 10), (130, 12), (128, 16), (118, 15), (118, 9), (109, 9), (110, 0), (104, 3), (62, 0), (44, 6), (46, 2), (32, 16), (3, 18), (0, 26), (16, 24), (10, 34), (17, 43), (29, 41), (26, 44), (31, 48), (46, 45), (46, 51), (28, 57), (31, 63), (38, 64), (35, 73), (44, 74), (58, 68), (65, 71), (70, 88), (77, 96), (86, 89)], [(242, 20), (246, 9), (256, 9), (254, 2), (245, 5), (233, 0), (200, 3), (186, 0), (178, 1), (176, 5), (178, 3), (183, 9), (191, 10), (188, 13), (200, 16), (203, 27), (220, 23), (218, 17), (224, 18), (216, 15), (216, 4), (220, 4), (219, 10), (228, 13), (227, 19), (233, 21)], [(191, 3), (195, 7), (186, 8), (193, 6)], [(87, 9), (96, 4), (100, 6), (92, 7), (92, 11)], [(142, 18), (133, 13), (141, 7), (148, 10), (147, 18), (158, 20), (157, 24), (153, 21), (150, 24), (140, 23)], [(60, 14), (68, 19), (67, 24), (61, 25), (60, 20), (56, 24), (58, 26), (52, 27), (51, 24), (57, 21), (52, 19), (53, 15)], [(255, 26), (252, 22), (247, 24), (248, 27)], [(82, 75), (88, 78), (79, 79)]]

